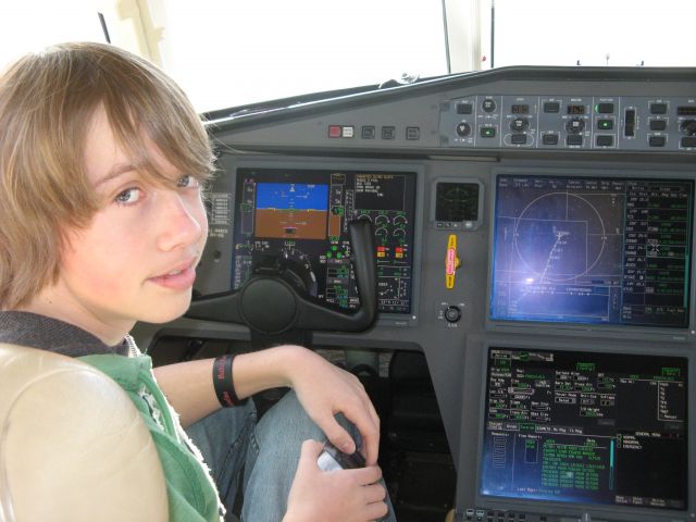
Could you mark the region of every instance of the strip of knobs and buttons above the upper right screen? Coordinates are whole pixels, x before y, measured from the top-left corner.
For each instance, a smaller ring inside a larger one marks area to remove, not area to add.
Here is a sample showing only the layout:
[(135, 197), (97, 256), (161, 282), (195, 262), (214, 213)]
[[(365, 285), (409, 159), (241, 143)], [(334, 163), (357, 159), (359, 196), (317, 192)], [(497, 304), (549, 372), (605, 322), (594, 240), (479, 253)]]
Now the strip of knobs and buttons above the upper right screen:
[(473, 95), (442, 103), (447, 147), (696, 151), (696, 98)]

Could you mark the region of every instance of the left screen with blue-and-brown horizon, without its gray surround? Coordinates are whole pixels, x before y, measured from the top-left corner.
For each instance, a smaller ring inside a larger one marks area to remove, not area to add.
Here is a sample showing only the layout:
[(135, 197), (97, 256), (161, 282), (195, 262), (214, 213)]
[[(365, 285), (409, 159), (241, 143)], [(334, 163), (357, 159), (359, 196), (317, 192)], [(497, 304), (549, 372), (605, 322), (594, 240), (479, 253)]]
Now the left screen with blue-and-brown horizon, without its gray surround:
[(344, 309), (359, 306), (348, 222), (375, 229), (378, 311), (411, 312), (415, 173), (238, 169), (232, 282), (277, 256), (307, 290)]

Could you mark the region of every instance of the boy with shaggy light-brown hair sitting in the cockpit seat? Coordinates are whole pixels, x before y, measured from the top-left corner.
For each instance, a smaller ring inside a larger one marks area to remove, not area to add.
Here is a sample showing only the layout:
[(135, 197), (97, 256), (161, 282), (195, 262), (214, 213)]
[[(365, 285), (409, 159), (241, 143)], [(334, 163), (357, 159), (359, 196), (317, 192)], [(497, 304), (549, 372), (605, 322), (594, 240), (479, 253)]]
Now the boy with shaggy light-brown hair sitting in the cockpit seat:
[[(227, 506), (245, 465), (246, 521), (387, 513), (378, 419), (353, 375), (283, 346), (234, 363), (159, 368), (154, 382), (127, 335), (136, 321), (186, 311), (208, 232), (201, 184), (213, 156), (170, 78), (111, 46), (57, 46), (0, 77), (0, 341), (80, 357), (126, 389), (158, 446), (171, 520), (216, 520), (223, 510), (169, 405)], [(239, 399), (276, 386), (293, 393), (256, 425), (253, 407)], [(322, 445), (302, 440), (323, 432), (355, 451), (339, 412), (358, 430), (368, 467), (325, 473), (316, 467)]]

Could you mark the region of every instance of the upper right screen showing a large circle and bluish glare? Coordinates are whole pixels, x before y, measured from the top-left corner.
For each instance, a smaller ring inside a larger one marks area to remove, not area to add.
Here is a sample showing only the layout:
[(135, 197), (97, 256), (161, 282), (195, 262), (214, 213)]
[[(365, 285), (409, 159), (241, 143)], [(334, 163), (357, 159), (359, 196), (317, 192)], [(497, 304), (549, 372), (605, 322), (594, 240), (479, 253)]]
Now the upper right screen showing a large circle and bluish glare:
[(497, 177), (490, 319), (686, 328), (694, 182)]

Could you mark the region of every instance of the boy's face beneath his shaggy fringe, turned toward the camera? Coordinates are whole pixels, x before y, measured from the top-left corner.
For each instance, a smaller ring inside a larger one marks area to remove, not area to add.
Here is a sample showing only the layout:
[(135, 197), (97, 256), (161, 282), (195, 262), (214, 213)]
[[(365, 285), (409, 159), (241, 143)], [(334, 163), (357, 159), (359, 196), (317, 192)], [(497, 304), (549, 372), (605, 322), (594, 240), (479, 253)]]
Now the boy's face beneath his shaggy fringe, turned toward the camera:
[(102, 204), (86, 228), (69, 232), (50, 297), (58, 319), (107, 341), (136, 321), (161, 323), (186, 311), (208, 235), (198, 182), (156, 147), (150, 153), (171, 179), (166, 186), (147, 184), (129, 166), (105, 114), (96, 114), (85, 165)]

